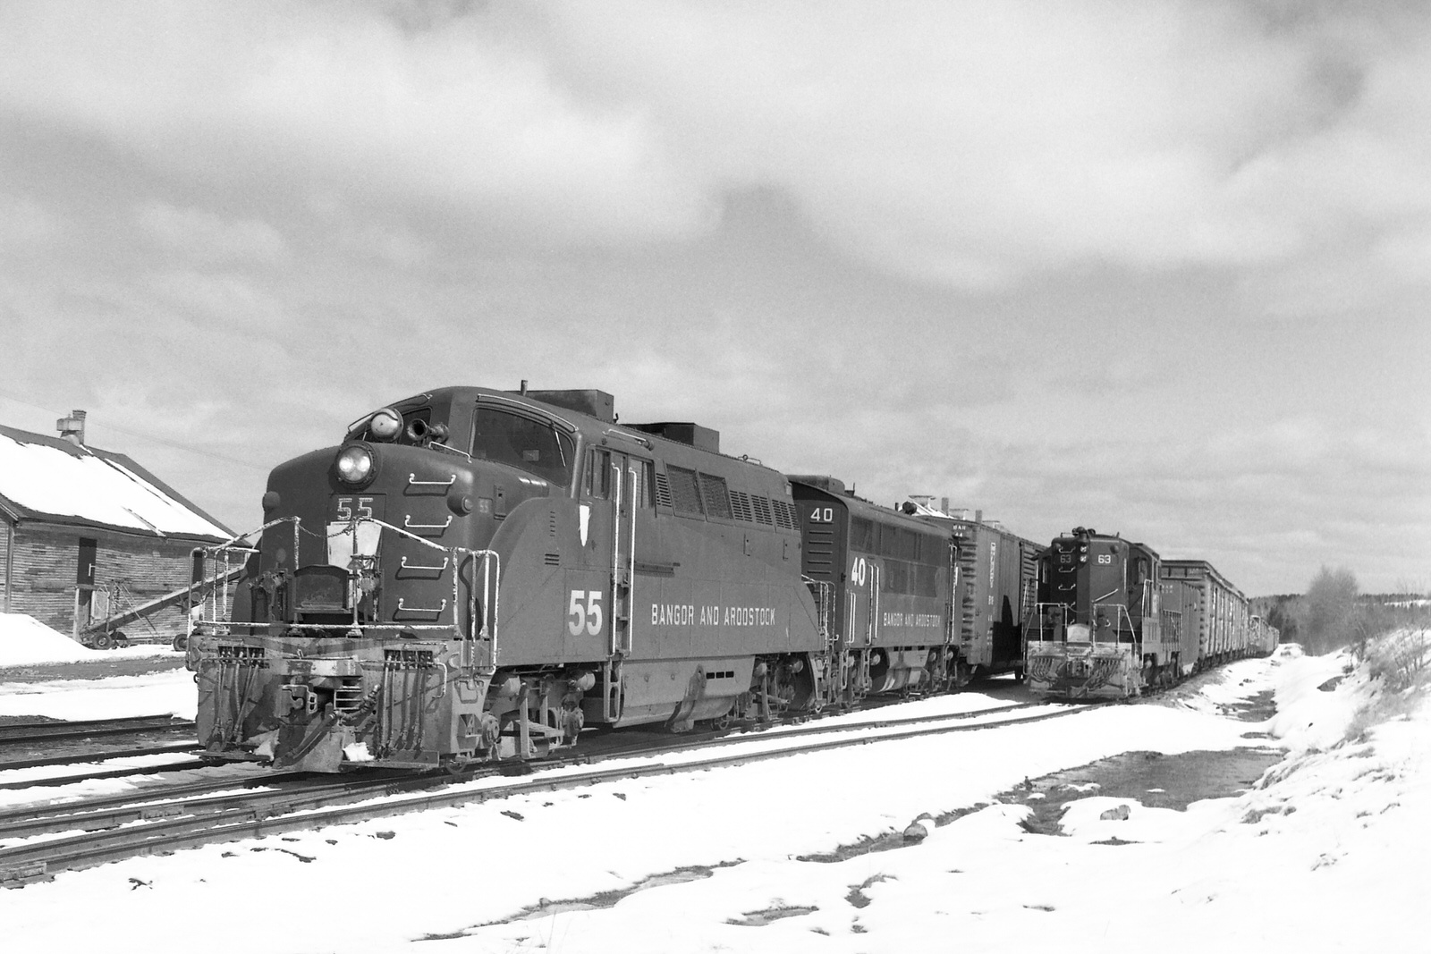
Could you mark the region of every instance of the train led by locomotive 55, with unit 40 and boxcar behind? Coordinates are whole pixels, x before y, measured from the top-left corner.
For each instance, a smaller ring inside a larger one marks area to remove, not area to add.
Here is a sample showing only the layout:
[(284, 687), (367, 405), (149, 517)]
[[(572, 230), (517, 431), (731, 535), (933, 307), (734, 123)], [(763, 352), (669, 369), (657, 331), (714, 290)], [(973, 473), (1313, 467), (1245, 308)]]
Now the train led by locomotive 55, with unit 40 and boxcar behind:
[[(1042, 628), (1032, 541), (718, 442), (618, 425), (600, 390), (444, 388), (279, 465), (260, 535), (196, 551), (205, 576), (242, 568), (232, 599), (192, 612), (206, 755), (532, 758), (585, 727), (684, 731), (1022, 675), (1027, 625), (1040, 652), (1083, 632), (1078, 611)], [(1129, 674), (1128, 691), (1148, 684)]]

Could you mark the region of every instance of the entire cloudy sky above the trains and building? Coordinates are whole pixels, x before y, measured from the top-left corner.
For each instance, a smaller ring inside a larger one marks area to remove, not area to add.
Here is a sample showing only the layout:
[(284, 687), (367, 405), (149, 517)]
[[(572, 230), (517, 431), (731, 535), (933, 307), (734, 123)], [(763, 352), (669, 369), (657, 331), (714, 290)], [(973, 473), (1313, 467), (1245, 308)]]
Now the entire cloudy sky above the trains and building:
[(1431, 7), (0, 7), (0, 423), (235, 529), (432, 386), (1431, 585)]

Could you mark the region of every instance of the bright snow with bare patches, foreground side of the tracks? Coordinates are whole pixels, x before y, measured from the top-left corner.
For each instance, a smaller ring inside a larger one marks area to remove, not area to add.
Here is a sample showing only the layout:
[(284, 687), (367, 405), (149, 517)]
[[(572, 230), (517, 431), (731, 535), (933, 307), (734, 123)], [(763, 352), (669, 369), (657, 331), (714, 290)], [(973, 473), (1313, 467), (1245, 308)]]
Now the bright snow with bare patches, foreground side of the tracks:
[[(1319, 688), (1344, 662), (1286, 654), (1203, 677), (1201, 701), (140, 858), (0, 892), (0, 923), (24, 951), (89, 945), (96, 930), (107, 951), (212, 954), (1417, 950), (1431, 715), (1407, 699), (1362, 727), (1374, 687), (1359, 672)], [(1265, 724), (1212, 704), (1266, 691)], [(1285, 761), (1186, 811), (1090, 790), (1055, 837), (995, 802), (1025, 777), (1125, 751), (1266, 745), (1244, 734), (1268, 731)], [(800, 860), (980, 804), (910, 847)], [(1126, 820), (1102, 817), (1116, 807)]]

